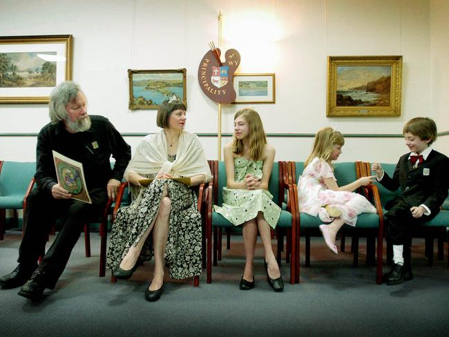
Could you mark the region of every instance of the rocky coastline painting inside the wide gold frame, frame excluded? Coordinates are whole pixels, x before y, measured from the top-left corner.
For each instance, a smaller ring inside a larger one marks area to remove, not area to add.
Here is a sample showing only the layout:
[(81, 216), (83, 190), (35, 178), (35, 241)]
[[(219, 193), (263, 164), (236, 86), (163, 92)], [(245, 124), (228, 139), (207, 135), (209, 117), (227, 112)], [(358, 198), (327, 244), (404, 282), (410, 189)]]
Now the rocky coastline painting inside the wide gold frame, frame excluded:
[(391, 66), (337, 66), (336, 106), (390, 106)]

